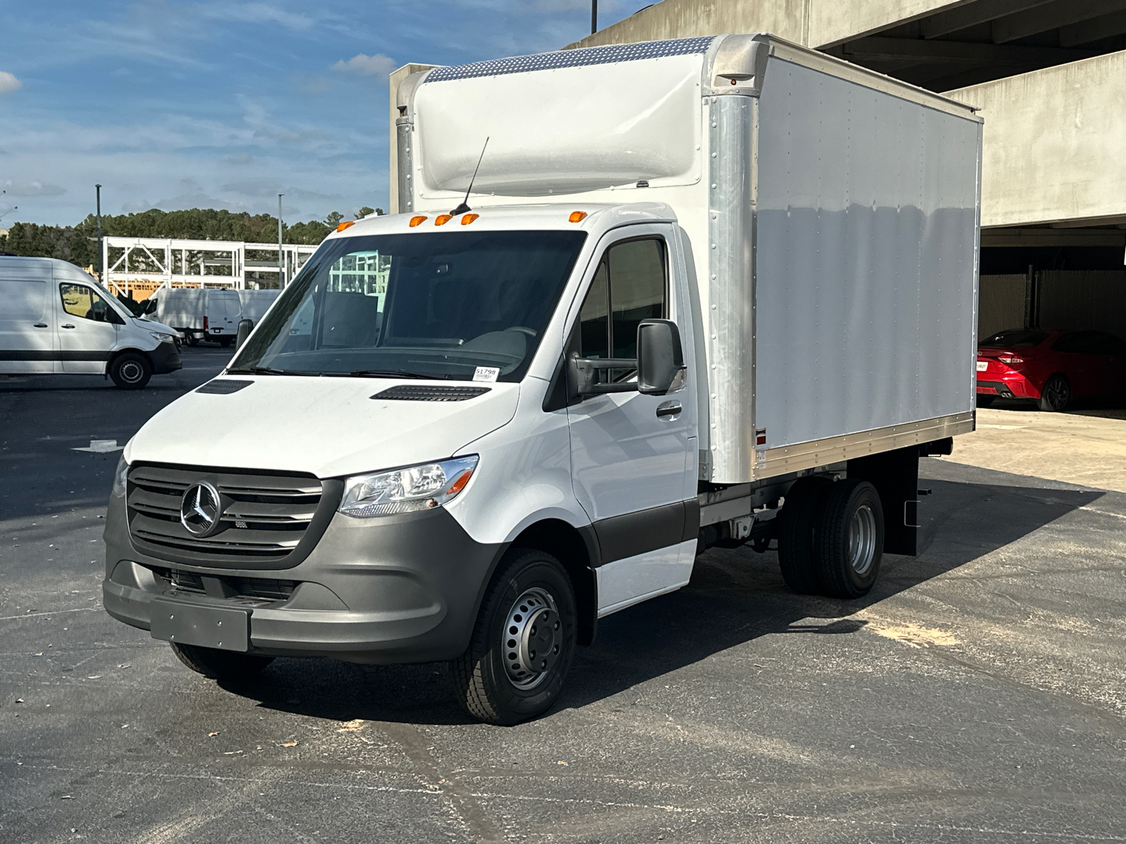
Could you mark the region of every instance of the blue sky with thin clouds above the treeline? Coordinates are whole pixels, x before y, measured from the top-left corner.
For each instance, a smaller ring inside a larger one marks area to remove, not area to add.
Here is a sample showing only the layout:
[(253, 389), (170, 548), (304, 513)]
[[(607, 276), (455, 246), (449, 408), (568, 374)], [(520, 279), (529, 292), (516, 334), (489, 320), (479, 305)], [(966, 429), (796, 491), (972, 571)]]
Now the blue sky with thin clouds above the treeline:
[(0, 0), (0, 227), (75, 223), (95, 182), (104, 214), (386, 208), (390, 70), (589, 28), (589, 0)]

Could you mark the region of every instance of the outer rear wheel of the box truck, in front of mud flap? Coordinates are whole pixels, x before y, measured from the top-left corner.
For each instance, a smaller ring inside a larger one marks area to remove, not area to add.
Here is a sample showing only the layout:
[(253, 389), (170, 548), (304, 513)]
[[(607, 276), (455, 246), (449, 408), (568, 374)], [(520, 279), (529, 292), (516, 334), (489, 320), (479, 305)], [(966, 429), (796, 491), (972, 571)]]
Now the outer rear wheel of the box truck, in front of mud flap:
[(824, 593), (844, 600), (868, 594), (884, 556), (884, 506), (876, 487), (859, 478), (833, 484), (815, 541)]

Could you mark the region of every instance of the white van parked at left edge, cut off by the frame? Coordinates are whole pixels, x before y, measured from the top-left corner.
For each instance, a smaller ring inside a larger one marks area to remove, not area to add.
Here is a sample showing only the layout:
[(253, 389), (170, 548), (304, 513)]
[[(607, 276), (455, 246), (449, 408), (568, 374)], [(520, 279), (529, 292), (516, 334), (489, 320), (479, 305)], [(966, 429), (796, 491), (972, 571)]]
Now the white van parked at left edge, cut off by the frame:
[(138, 389), (180, 366), (172, 329), (133, 316), (74, 264), (0, 257), (0, 374), (108, 375)]

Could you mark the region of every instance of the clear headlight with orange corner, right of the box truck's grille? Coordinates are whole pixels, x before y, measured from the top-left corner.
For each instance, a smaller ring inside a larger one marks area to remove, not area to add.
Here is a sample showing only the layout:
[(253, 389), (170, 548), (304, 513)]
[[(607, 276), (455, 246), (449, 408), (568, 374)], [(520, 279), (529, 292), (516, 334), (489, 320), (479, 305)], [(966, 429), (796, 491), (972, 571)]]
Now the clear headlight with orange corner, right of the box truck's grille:
[(394, 472), (356, 475), (345, 483), (340, 512), (356, 519), (440, 508), (470, 483), (477, 456), (455, 457)]

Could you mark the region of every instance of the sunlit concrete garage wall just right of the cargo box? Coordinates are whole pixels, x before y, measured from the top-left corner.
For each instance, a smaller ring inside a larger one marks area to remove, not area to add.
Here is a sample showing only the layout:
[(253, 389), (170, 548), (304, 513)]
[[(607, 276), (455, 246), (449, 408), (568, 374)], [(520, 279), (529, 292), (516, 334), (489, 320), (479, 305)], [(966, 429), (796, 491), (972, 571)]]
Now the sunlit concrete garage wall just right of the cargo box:
[(1126, 51), (946, 96), (985, 118), (983, 226), (1126, 216)]

